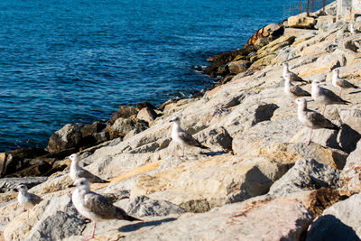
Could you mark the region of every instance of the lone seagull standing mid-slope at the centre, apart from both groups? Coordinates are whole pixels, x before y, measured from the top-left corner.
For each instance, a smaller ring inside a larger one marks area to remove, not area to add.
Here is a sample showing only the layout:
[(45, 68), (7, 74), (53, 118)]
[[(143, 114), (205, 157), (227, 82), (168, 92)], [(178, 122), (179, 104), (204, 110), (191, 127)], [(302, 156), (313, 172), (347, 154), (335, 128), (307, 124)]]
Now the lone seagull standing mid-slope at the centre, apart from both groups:
[(191, 134), (185, 132), (183, 129), (180, 128), (180, 117), (175, 116), (171, 118), (170, 122), (173, 123), (173, 127), (171, 129), (171, 139), (176, 144), (179, 144), (181, 146), (181, 155), (180, 157), (184, 156), (184, 146), (190, 145), (190, 146), (197, 146), (202, 149), (209, 149), (209, 147), (200, 144), (197, 139), (195, 139)]

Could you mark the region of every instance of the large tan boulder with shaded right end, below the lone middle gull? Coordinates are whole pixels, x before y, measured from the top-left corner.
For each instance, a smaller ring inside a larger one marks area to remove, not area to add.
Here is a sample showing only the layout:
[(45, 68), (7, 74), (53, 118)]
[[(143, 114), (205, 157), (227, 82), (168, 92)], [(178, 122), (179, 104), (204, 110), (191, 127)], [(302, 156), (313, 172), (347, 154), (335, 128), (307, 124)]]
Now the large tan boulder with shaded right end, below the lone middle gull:
[(262, 157), (243, 159), (216, 155), (181, 163), (157, 174), (143, 175), (135, 182), (131, 196), (148, 195), (152, 199), (170, 201), (190, 212), (207, 211), (227, 202), (267, 193), (273, 181), (281, 178), (289, 168), (289, 162), (283, 160), (269, 162)]

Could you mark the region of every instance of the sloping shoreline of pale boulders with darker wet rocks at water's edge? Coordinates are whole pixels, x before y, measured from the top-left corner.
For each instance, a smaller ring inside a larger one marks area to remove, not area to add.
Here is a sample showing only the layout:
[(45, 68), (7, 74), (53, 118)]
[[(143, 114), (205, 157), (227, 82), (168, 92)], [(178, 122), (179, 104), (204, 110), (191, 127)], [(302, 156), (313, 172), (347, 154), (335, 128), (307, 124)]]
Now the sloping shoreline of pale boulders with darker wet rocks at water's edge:
[[(109, 124), (65, 125), (46, 150), (0, 153), (0, 232), (5, 240), (80, 240), (92, 225), (74, 209), (70, 153), (109, 183), (91, 190), (143, 222), (97, 225), (97, 240), (359, 240), (361, 92), (325, 116), (339, 131), (309, 129), (283, 91), (282, 63), (309, 83), (330, 70), (361, 87), (361, 22), (355, 33), (325, 12), (299, 14), (255, 32), (243, 49), (210, 58), (218, 78), (196, 97), (119, 107)], [(319, 103), (308, 98), (312, 110)], [(174, 116), (210, 151), (171, 142)], [(20, 178), (20, 179), (19, 179)], [(42, 202), (30, 218), (14, 192), (26, 183)], [(0, 235), (0, 240), (2, 239)]]

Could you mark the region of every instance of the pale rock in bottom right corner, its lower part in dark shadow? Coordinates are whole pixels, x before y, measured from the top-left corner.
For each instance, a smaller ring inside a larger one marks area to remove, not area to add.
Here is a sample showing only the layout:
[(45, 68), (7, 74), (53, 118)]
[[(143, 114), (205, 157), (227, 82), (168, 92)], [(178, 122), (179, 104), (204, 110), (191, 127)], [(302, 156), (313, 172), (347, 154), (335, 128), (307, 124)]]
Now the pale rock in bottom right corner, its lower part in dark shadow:
[(306, 240), (360, 240), (361, 194), (339, 201), (325, 209), (307, 233)]

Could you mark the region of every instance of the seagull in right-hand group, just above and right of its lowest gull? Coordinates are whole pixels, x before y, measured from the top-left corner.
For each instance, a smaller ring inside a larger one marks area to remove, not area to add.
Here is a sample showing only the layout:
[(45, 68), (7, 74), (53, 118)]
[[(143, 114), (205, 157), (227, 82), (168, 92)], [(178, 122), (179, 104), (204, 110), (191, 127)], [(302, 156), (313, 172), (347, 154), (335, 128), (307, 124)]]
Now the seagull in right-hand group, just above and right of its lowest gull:
[(334, 92), (327, 88), (319, 87), (321, 82), (319, 80), (312, 81), (312, 88), (310, 91), (311, 97), (318, 101), (319, 103), (323, 104), (322, 115), (325, 112), (325, 108), (327, 105), (339, 104), (339, 105), (347, 105), (350, 102), (347, 100), (338, 97)]

